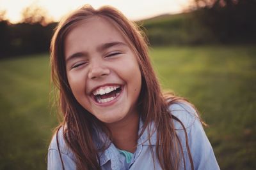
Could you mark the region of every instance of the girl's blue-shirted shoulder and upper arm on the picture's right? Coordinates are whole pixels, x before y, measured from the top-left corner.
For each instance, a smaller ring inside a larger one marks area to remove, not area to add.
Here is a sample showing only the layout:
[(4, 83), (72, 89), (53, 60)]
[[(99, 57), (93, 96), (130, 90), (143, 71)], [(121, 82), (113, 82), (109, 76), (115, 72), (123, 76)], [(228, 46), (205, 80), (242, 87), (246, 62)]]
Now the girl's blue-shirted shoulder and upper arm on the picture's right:
[[(186, 147), (187, 141), (195, 169), (220, 169), (211, 143), (204, 132), (204, 128), (195, 108), (193, 108), (191, 104), (184, 102), (171, 104), (169, 110), (170, 113), (180, 121), (173, 120), (173, 124), (180, 142), (182, 143), (186, 167), (190, 167), (189, 161), (186, 161), (189, 160), (188, 148)], [(180, 123), (184, 125), (184, 128)]]

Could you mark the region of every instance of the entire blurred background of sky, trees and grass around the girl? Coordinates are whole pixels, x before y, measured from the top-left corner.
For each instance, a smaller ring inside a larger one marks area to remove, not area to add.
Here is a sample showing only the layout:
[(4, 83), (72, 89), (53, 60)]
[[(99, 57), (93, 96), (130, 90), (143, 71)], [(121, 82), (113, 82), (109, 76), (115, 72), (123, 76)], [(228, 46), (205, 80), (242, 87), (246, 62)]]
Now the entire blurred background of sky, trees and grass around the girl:
[(0, 0), (0, 169), (46, 169), (60, 18), (109, 4), (147, 34), (164, 90), (195, 104), (221, 169), (256, 169), (256, 0)]

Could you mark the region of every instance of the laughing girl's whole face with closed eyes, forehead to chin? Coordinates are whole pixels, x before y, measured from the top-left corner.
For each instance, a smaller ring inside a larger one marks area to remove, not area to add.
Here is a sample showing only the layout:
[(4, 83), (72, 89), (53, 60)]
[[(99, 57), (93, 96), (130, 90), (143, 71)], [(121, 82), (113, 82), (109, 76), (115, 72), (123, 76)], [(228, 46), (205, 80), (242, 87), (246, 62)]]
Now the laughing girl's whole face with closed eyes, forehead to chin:
[(138, 114), (141, 72), (131, 47), (116, 27), (92, 17), (65, 39), (67, 78), (81, 106), (104, 123)]

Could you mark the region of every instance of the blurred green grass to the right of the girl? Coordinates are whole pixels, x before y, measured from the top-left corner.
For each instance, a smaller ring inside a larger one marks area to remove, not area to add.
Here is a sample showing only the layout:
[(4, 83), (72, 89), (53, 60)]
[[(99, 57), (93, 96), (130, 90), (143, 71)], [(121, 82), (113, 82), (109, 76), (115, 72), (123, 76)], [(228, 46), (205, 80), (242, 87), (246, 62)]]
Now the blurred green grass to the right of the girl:
[(221, 169), (256, 168), (256, 49), (253, 46), (154, 48), (163, 89), (188, 98)]

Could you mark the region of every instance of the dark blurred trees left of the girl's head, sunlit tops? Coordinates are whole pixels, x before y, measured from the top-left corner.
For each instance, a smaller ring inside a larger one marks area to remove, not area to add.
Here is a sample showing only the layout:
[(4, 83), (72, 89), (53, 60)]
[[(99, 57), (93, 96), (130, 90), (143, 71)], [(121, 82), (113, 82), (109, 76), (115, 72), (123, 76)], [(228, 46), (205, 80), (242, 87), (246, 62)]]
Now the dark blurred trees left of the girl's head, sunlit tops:
[(0, 59), (11, 55), (49, 52), (49, 45), (57, 23), (47, 12), (31, 5), (22, 11), (21, 23), (6, 20), (6, 11), (0, 11)]

